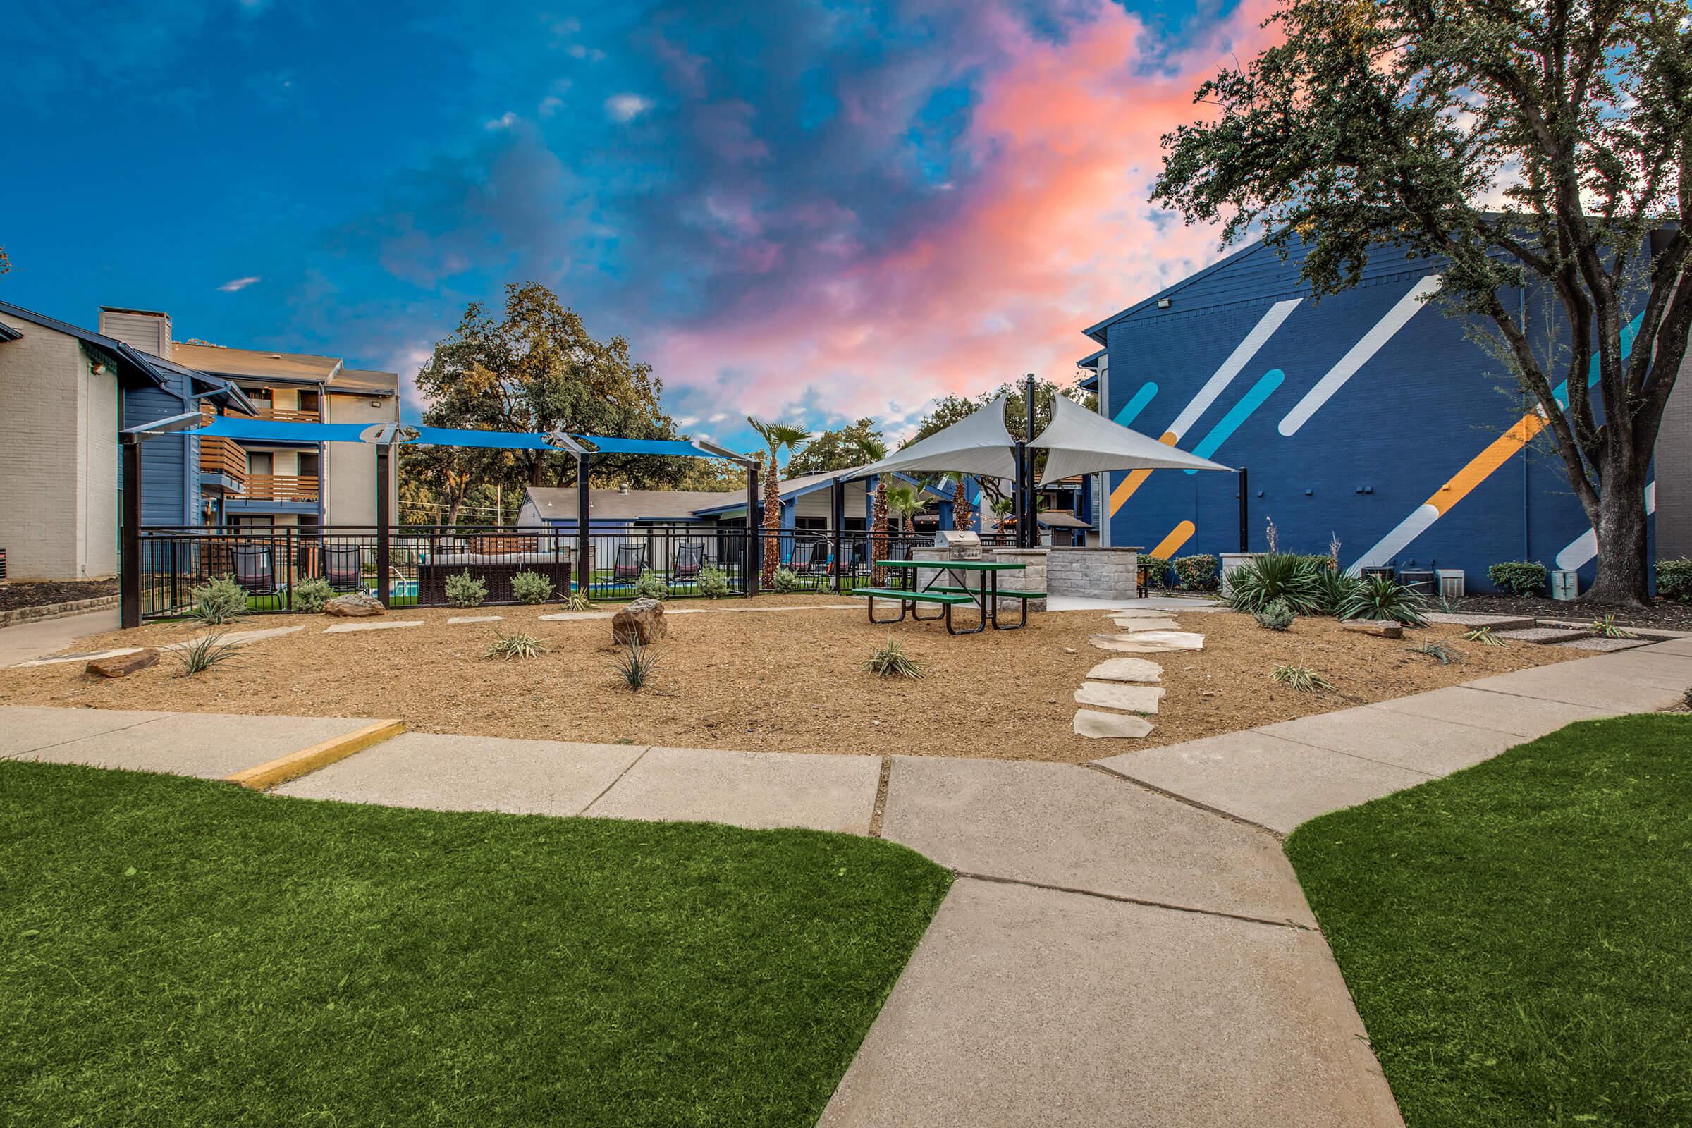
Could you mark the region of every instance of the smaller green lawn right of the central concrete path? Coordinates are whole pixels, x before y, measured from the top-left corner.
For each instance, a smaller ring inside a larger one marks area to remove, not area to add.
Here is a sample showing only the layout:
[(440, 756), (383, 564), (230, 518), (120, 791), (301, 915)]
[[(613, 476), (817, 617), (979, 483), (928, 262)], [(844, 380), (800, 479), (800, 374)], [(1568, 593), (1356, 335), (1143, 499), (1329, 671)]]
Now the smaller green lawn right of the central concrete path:
[(1411, 1128), (1692, 1125), (1692, 717), (1575, 724), (1286, 851)]

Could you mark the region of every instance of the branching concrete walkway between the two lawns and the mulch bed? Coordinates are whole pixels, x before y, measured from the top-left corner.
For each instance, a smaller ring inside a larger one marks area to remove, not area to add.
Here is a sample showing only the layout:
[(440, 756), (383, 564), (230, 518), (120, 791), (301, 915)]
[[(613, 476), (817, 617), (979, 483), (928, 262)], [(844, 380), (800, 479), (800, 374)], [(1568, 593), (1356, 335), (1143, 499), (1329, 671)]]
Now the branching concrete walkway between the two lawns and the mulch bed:
[[(1281, 835), (1689, 685), (1677, 639), (1083, 766), (406, 734), (279, 793), (878, 830), (953, 868), (826, 1128), (1391, 1128)], [(8, 709), (0, 756), (223, 775), (359, 724)]]

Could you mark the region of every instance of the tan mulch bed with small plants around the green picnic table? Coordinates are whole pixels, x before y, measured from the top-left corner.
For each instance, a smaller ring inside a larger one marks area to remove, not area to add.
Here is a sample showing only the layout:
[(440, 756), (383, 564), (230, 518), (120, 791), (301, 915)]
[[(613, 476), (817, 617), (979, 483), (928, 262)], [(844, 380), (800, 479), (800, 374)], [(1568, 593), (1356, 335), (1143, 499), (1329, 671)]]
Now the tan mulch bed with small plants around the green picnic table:
[[(85, 675), (80, 663), (5, 670), (0, 704), (399, 717), (425, 732), (1081, 763), (1590, 656), (1533, 644), (1489, 648), (1464, 641), (1459, 627), (1382, 639), (1332, 619), (1299, 619), (1277, 632), (1249, 616), (1176, 611), (1181, 626), (1206, 641), (1203, 651), (1147, 654), (1162, 665), (1167, 690), (1156, 729), (1144, 741), (1090, 741), (1071, 727), (1074, 690), (1093, 665), (1117, 656), (1088, 644), (1088, 634), (1115, 631), (1100, 612), (1037, 612), (1022, 631), (951, 638), (939, 624), (871, 626), (861, 609), (758, 609), (794, 602), (766, 595), (672, 604), (717, 612), (668, 616), (658, 668), (640, 692), (613, 668), (607, 619), (540, 622), (555, 609), (501, 607), (487, 611), (506, 616), (496, 624), (448, 626), (462, 612), (401, 611), (396, 617), (425, 626), (355, 634), (321, 634), (333, 622), (323, 616), (250, 616), (237, 629), (306, 629), (255, 643), (195, 678), (178, 676), (169, 658), (124, 680)], [(482, 651), (496, 629), (528, 631), (550, 649), (533, 660), (487, 660)], [(83, 639), (76, 649), (156, 646), (200, 632), (186, 622), (152, 624)], [(890, 638), (926, 676), (863, 670)], [(1413, 653), (1425, 639), (1440, 641), (1455, 660), (1440, 665)], [(1335, 688), (1277, 685), (1269, 675), (1279, 663), (1311, 666)]]

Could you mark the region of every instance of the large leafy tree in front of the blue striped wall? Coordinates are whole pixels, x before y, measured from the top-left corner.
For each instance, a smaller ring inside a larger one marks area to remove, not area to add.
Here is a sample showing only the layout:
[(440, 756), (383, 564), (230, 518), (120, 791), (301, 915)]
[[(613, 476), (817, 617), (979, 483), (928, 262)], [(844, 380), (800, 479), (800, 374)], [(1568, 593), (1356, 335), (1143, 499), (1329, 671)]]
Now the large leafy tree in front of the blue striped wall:
[[(1154, 198), (1223, 242), (1303, 240), (1318, 296), (1374, 254), (1447, 259), (1442, 301), (1492, 337), (1597, 533), (1587, 597), (1643, 602), (1646, 475), (1692, 330), (1692, 7), (1289, 0), (1269, 24), (1284, 41), (1164, 137)], [(1557, 348), (1518, 287), (1560, 311)]]

